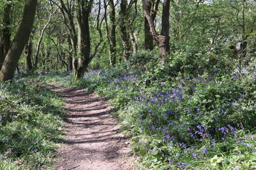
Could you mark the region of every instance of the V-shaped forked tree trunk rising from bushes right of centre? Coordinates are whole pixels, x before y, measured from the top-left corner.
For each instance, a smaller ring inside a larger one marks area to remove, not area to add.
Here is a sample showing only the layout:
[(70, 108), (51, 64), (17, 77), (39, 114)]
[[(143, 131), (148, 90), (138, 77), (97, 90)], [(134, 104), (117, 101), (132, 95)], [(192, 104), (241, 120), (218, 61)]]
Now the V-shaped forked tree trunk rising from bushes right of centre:
[(156, 31), (156, 27), (154, 25), (154, 20), (148, 11), (148, 4), (146, 0), (142, 0), (143, 3), (143, 11), (145, 17), (148, 20), (148, 25), (150, 27), (150, 34), (155, 39), (157, 46), (159, 47), (159, 58), (163, 59), (164, 56), (168, 55), (170, 50), (170, 37), (169, 37), (169, 17), (170, 17), (170, 1), (173, 0), (164, 0), (163, 3), (163, 13), (162, 13), (162, 29), (161, 34), (158, 34)]

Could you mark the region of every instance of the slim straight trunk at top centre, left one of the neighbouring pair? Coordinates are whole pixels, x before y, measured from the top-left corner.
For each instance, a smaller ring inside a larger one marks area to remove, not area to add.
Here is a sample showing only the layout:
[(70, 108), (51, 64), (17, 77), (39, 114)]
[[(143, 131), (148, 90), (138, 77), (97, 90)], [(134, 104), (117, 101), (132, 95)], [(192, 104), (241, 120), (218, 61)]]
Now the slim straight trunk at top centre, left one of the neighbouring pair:
[(115, 4), (113, 0), (109, 0), (109, 60), (110, 65), (116, 65), (116, 19), (115, 19)]

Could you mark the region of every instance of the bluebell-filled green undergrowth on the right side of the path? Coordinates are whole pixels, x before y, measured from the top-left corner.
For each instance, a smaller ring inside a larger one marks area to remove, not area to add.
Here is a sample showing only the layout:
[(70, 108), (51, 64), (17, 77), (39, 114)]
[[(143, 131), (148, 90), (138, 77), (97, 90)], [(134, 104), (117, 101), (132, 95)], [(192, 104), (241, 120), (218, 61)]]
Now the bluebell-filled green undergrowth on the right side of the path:
[(212, 68), (115, 67), (74, 84), (111, 98), (139, 169), (255, 169), (255, 67)]

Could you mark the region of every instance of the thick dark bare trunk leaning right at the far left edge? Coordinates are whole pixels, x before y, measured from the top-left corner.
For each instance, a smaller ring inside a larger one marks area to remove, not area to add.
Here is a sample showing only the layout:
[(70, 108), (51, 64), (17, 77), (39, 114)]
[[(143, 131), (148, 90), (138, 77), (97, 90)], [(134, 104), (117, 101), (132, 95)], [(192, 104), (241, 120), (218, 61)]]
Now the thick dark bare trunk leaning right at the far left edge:
[(37, 0), (27, 0), (24, 4), (24, 11), (20, 27), (13, 39), (12, 46), (4, 59), (0, 71), (0, 81), (12, 80), (20, 55), (26, 43), (28, 43), (36, 13)]

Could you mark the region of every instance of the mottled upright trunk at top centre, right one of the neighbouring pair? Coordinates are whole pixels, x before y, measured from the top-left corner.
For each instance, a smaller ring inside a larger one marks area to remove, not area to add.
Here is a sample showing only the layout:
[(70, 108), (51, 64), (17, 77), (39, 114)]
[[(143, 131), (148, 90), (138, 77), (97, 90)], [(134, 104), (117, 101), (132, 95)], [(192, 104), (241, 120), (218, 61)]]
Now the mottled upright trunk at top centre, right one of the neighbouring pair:
[(121, 0), (120, 4), (120, 31), (121, 31), (121, 39), (123, 43), (123, 59), (125, 62), (128, 62), (131, 45), (129, 42), (129, 32), (127, 30), (127, 0)]

